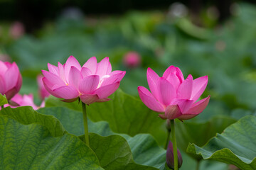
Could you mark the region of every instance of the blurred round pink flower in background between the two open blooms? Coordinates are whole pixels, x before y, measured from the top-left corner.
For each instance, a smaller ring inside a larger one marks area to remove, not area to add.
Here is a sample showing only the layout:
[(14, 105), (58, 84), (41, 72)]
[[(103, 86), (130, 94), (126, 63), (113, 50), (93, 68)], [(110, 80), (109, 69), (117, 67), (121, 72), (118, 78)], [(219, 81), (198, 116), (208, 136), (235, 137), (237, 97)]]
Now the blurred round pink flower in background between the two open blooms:
[(138, 67), (139, 64), (142, 62), (142, 57), (139, 55), (138, 52), (127, 52), (127, 54), (124, 55), (124, 65), (129, 68)]

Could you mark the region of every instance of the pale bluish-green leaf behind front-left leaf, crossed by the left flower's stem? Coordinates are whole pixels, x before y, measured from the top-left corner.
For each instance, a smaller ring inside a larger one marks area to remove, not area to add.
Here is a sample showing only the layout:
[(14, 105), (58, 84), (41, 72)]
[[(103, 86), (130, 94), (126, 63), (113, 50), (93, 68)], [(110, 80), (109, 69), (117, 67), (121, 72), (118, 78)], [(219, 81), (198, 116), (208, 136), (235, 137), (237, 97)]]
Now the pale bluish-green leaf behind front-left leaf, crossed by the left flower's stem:
[[(74, 111), (69, 108), (63, 107), (50, 107), (41, 108), (38, 110), (39, 113), (54, 115), (63, 124), (65, 130), (75, 135), (82, 135), (84, 133), (82, 123), (82, 113)], [(72, 120), (72, 121), (70, 121)], [(88, 120), (89, 132), (97, 133), (102, 136), (114, 135), (116, 133), (110, 130), (110, 126), (105, 121), (93, 123)], [(118, 134), (124, 137), (129, 147), (132, 150), (132, 156), (134, 162), (137, 164), (143, 164), (146, 166), (154, 166), (160, 168), (165, 164), (166, 151), (159, 147), (157, 142), (149, 134), (139, 134), (134, 137), (130, 137), (125, 134)], [(122, 137), (119, 140), (123, 140)], [(129, 166), (135, 166), (135, 163), (129, 164)], [(127, 169), (127, 167), (126, 167)], [(143, 168), (144, 169), (144, 168)]]

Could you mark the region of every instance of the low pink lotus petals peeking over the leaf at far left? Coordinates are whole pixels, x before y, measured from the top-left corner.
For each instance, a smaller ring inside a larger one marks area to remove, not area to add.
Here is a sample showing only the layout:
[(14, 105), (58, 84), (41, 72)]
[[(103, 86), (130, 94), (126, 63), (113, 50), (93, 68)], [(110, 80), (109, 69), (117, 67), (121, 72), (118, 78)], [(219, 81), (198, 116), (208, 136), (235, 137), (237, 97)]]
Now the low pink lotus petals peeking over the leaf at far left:
[(34, 110), (38, 110), (38, 108), (43, 108), (45, 106), (45, 102), (43, 101), (41, 106), (36, 106), (35, 103), (33, 103), (33, 94), (24, 94), (23, 96), (21, 94), (16, 94), (11, 98), (9, 104), (4, 105), (4, 107), (7, 106), (10, 106), (11, 108), (17, 108), (18, 106), (31, 106)]

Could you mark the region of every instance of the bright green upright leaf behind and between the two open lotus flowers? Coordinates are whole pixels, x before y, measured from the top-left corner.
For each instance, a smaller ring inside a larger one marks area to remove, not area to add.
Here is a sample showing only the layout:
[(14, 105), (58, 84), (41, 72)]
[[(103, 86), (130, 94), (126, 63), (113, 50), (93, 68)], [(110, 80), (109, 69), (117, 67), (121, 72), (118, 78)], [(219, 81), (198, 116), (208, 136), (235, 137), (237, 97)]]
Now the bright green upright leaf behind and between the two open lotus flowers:
[[(150, 133), (159, 144), (166, 141), (165, 121), (158, 118), (158, 113), (147, 108), (139, 98), (134, 98), (117, 90), (111, 101), (92, 103), (87, 106), (87, 115), (94, 122), (107, 121), (113, 132), (134, 136), (139, 133)], [(65, 106), (80, 111), (77, 102), (64, 103), (57, 98), (48, 98), (46, 106)]]

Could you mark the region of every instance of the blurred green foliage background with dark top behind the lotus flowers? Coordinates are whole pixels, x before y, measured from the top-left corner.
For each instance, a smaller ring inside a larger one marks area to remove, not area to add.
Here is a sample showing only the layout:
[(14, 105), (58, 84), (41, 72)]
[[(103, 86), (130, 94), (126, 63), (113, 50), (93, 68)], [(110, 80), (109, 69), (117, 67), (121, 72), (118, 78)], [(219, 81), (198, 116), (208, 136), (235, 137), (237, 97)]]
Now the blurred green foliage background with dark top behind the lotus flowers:
[[(216, 115), (237, 120), (256, 109), (256, 6), (251, 3), (1, 0), (0, 60), (18, 64), (21, 94), (34, 94), (38, 104), (36, 76), (48, 62), (64, 63), (70, 55), (81, 64), (92, 56), (110, 57), (113, 69), (127, 71), (120, 88), (132, 96), (138, 96), (137, 86), (148, 86), (148, 67), (161, 75), (174, 65), (185, 77), (209, 77), (202, 98), (210, 95), (210, 103), (191, 122)], [(139, 54), (137, 67), (125, 64), (127, 52)], [(220, 163), (213, 169), (217, 166), (227, 169)]]

